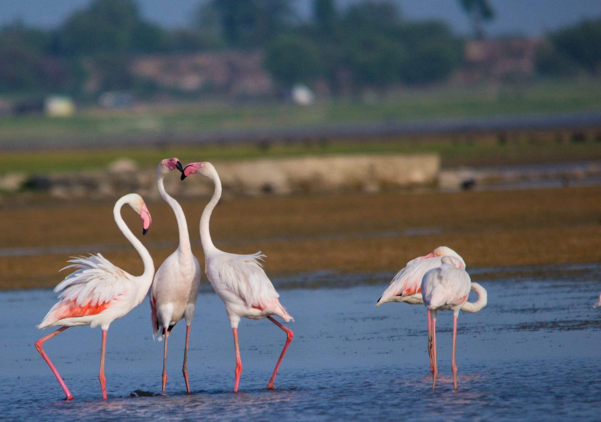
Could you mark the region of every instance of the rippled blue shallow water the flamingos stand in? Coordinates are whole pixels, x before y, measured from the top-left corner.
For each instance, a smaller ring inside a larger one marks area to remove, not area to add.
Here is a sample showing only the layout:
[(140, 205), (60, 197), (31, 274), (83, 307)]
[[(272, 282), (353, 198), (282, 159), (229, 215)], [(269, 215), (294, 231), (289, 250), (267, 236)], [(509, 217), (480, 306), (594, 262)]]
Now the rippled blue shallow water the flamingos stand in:
[[(284, 289), (295, 337), (276, 390), (264, 390), (285, 335), (267, 320), (240, 324), (243, 371), (231, 393), (234, 352), (219, 298), (203, 292), (181, 373), (185, 325), (169, 337), (167, 396), (160, 390), (162, 345), (153, 341), (147, 301), (108, 332), (109, 399), (100, 399), (100, 330), (70, 328), (45, 343), (75, 396), (64, 394), (33, 343), (35, 324), (55, 302), (50, 290), (0, 293), (0, 419), (5, 420), (598, 420), (601, 412), (601, 289), (596, 265), (478, 282), (489, 305), (462, 313), (459, 391), (451, 377), (449, 312), (437, 321), (440, 375), (432, 391), (423, 306), (374, 304), (388, 274), (341, 277), (344, 288)], [(332, 279), (335, 274), (328, 274)], [(483, 279), (484, 277), (484, 279)], [(301, 277), (302, 279), (302, 277)], [(346, 282), (345, 282), (346, 280)], [(350, 280), (350, 281), (349, 281)], [(361, 282), (374, 284), (361, 284)], [(205, 280), (203, 279), (203, 283)], [(359, 285), (356, 285), (359, 283)], [(132, 397), (134, 391), (141, 397)]]

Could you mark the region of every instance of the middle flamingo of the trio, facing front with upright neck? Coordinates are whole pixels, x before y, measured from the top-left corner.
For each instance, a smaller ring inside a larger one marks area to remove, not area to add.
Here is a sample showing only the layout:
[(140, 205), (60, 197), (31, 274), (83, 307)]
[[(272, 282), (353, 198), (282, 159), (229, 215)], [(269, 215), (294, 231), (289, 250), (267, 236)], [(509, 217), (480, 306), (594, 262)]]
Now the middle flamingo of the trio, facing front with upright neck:
[[(160, 196), (171, 206), (177, 220), (177, 229), (180, 235), (180, 244), (174, 253), (169, 255), (160, 265), (154, 275), (150, 288), (150, 310), (153, 336), (159, 334), (159, 341), (165, 337), (163, 346), (163, 375), (162, 391), (165, 392), (167, 381), (167, 337), (172, 328), (180, 319), (186, 319), (186, 343), (184, 348), (184, 364), (182, 372), (186, 382), (186, 391), (190, 393), (188, 383), (188, 340), (190, 338), (190, 325), (194, 317), (194, 309), (198, 288), (200, 286), (200, 264), (198, 259), (192, 255), (190, 247), (190, 236), (186, 216), (182, 206), (165, 191), (163, 179), (171, 170), (183, 171), (182, 163), (177, 158), (162, 160), (157, 168), (157, 185), (159, 185)], [(161, 330), (162, 328), (162, 330)]]

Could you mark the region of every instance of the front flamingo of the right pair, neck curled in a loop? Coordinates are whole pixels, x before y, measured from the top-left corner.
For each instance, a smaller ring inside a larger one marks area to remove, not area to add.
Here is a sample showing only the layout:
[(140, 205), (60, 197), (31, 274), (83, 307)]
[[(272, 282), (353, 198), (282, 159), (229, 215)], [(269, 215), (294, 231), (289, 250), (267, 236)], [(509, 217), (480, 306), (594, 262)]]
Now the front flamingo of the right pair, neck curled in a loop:
[[(478, 294), (478, 300), (469, 303), (469, 291), (474, 290)], [(440, 268), (433, 268), (424, 274), (421, 282), (421, 293), (424, 305), (432, 311), (432, 321), (429, 321), (429, 329), (432, 330), (432, 353), (434, 370), (432, 371), (432, 390), (436, 386), (436, 313), (439, 310), (453, 310), (453, 356), (451, 358), (451, 370), (453, 372), (453, 383), (457, 390), (457, 365), (455, 364), (455, 344), (457, 338), (457, 316), (459, 311), (478, 312), (486, 306), (486, 290), (472, 283), (469, 274), (462, 268), (462, 262), (454, 256), (442, 257)]]

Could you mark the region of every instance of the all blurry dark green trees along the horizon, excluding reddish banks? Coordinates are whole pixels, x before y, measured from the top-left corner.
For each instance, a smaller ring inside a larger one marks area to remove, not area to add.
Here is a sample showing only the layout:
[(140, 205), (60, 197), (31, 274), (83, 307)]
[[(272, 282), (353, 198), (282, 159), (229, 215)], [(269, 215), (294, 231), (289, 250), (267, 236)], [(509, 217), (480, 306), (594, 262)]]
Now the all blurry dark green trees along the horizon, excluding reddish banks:
[[(483, 38), (492, 8), (486, 0), (459, 2)], [(133, 0), (94, 0), (51, 31), (4, 26), (0, 93), (151, 93), (157, 87), (129, 71), (133, 55), (260, 49), (282, 88), (322, 82), (339, 95), (441, 82), (463, 57), (462, 38), (445, 23), (409, 22), (389, 1), (338, 10), (333, 0), (314, 0), (311, 19), (301, 20), (292, 0), (209, 0), (191, 20), (189, 28), (166, 30), (142, 19)], [(600, 20), (549, 34), (548, 41), (537, 56), (540, 74), (599, 72)]]

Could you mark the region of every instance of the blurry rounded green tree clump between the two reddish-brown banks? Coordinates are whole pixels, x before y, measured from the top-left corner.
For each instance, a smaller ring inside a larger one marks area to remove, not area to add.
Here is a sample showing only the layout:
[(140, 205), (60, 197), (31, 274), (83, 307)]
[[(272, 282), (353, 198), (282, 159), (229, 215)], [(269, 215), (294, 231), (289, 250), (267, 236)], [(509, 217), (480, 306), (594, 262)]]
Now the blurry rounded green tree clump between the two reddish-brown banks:
[(314, 2), (314, 19), (287, 28), (266, 45), (266, 67), (282, 85), (328, 82), (383, 89), (446, 79), (462, 59), (462, 41), (441, 22), (406, 22), (390, 2), (360, 2), (343, 13)]

